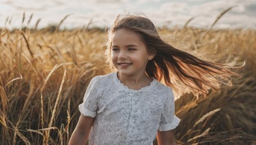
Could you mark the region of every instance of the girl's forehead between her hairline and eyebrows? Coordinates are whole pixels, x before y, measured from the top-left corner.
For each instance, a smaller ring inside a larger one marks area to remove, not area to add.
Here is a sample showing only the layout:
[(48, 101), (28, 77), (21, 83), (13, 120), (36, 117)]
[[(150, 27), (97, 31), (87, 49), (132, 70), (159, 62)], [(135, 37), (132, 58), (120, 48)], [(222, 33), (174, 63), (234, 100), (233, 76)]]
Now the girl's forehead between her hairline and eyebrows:
[(126, 29), (119, 29), (112, 34), (112, 45), (144, 45), (140, 34)]

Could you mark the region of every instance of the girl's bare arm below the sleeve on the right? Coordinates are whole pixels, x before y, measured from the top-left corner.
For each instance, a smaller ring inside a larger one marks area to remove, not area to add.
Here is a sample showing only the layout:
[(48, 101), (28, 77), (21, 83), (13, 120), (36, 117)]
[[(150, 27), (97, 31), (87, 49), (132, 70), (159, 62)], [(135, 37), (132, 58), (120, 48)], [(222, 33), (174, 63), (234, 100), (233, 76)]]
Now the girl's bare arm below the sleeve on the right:
[(159, 145), (175, 145), (175, 139), (173, 135), (173, 131), (159, 131), (157, 130), (157, 144)]

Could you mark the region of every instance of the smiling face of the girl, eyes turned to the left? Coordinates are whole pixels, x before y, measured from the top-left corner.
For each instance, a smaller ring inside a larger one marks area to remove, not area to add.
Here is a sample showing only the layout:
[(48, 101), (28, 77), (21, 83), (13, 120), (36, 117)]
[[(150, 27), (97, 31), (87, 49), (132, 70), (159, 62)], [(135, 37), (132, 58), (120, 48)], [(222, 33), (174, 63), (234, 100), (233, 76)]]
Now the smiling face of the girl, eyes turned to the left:
[(111, 60), (120, 75), (145, 75), (147, 62), (153, 58), (136, 32), (125, 29), (113, 32)]

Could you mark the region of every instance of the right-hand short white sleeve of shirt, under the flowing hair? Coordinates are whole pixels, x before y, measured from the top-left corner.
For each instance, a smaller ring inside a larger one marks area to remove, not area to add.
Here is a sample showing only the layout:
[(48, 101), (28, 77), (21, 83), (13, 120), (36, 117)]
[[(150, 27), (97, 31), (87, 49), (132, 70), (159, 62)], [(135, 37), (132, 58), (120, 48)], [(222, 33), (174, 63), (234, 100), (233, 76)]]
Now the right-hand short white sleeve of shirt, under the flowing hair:
[(180, 119), (175, 116), (175, 106), (173, 92), (168, 88), (168, 96), (164, 104), (161, 120), (159, 124), (159, 131), (173, 130), (179, 125)]

